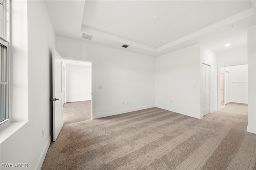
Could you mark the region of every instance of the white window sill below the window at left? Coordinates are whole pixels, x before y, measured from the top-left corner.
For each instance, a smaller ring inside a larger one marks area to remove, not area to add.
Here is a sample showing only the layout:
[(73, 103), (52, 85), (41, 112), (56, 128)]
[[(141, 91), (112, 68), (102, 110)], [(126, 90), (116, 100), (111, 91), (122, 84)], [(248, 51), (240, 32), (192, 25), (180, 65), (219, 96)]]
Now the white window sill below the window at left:
[(6, 127), (1, 128), (1, 131), (0, 131), (0, 141), (1, 141), (1, 144), (6, 139), (11, 137), (14, 133), (16, 133), (16, 131), (18, 131), (20, 128), (22, 128), (24, 125), (26, 125), (26, 123), (28, 123), (28, 120), (27, 121), (11, 122)]

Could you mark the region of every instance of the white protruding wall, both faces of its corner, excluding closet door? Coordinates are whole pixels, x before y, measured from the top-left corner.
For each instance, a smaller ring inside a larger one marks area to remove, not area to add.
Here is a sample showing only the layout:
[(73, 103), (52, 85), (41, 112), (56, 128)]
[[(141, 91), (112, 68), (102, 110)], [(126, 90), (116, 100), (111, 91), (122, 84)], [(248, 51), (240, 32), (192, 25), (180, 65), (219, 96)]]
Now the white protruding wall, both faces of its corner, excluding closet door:
[(210, 113), (216, 111), (217, 56), (200, 44), (156, 58), (156, 107), (202, 118), (202, 64), (210, 65)]

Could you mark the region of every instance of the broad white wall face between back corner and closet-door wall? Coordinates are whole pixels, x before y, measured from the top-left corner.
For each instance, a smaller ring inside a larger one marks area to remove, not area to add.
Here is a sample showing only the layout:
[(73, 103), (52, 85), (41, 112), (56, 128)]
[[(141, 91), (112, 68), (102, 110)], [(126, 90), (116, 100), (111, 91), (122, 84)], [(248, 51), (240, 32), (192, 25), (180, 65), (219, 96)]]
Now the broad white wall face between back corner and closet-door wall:
[(155, 64), (156, 107), (200, 118), (200, 45), (157, 57)]

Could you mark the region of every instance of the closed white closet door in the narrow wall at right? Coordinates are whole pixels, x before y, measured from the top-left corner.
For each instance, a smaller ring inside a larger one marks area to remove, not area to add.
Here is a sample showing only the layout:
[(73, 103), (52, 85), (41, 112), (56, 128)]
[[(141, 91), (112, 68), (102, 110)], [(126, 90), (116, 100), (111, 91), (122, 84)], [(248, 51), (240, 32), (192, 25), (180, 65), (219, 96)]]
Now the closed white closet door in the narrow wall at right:
[(203, 64), (203, 115), (210, 113), (210, 66)]

